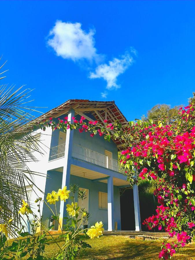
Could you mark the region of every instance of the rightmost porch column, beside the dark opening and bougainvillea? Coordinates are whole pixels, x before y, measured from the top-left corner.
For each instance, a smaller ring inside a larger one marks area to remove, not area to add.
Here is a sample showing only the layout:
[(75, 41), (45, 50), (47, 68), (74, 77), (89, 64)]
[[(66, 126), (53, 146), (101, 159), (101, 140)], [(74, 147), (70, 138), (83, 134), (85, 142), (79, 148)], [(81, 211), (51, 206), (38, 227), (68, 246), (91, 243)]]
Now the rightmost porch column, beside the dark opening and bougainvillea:
[[(135, 174), (137, 179), (137, 174)], [(138, 185), (133, 184), (133, 200), (134, 200), (134, 212), (135, 212), (135, 231), (142, 231), (141, 218), (140, 218), (140, 202)]]

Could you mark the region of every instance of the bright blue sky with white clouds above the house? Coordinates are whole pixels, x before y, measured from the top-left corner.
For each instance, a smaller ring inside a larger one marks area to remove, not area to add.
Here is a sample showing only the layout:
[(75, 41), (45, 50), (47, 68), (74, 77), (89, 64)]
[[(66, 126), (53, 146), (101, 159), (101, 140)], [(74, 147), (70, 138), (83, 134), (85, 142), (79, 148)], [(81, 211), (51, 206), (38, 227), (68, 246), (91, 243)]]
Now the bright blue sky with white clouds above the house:
[[(1, 83), (46, 112), (115, 100), (128, 120), (195, 91), (195, 1), (0, 1)], [(50, 34), (50, 35), (49, 35)], [(102, 94), (103, 93), (103, 94)]]

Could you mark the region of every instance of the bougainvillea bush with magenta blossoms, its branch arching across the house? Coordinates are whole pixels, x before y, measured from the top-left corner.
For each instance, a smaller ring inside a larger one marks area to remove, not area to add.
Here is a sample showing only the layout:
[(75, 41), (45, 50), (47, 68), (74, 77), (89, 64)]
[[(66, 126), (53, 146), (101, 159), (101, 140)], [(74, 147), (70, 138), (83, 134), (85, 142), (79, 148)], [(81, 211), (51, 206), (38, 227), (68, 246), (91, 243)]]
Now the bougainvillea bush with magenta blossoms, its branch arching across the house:
[(120, 164), (126, 168), (131, 183), (137, 182), (135, 170), (142, 179), (155, 180), (158, 206), (156, 215), (148, 217), (143, 224), (149, 230), (157, 227), (165, 230), (177, 242), (162, 244), (159, 258), (171, 258), (174, 253), (195, 238), (194, 230), (194, 186), (195, 186), (195, 105), (180, 108), (174, 121), (141, 121), (105, 124), (81, 118), (52, 118), (45, 127), (55, 129), (79, 129), (98, 134), (106, 140), (124, 140), (124, 150), (120, 154)]

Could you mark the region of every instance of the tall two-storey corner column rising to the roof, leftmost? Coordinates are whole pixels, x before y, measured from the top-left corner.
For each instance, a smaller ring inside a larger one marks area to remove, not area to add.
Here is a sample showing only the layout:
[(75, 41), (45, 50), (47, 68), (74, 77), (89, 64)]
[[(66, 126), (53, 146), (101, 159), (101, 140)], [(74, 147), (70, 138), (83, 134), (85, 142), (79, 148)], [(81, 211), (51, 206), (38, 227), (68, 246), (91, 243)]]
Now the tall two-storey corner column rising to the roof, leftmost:
[[(68, 121), (73, 122), (72, 117), (75, 116), (74, 109), (70, 109), (68, 112)], [(64, 153), (64, 167), (63, 167), (63, 175), (62, 175), (62, 188), (67, 186), (67, 190), (70, 185), (70, 167), (71, 167), (71, 159), (72, 159), (72, 151), (73, 151), (73, 130), (67, 129), (66, 131), (66, 145), (65, 145), (65, 153)], [(59, 222), (62, 227), (64, 212), (66, 212), (64, 200), (60, 201), (60, 218)], [(60, 229), (60, 225), (58, 226), (58, 230)]]

